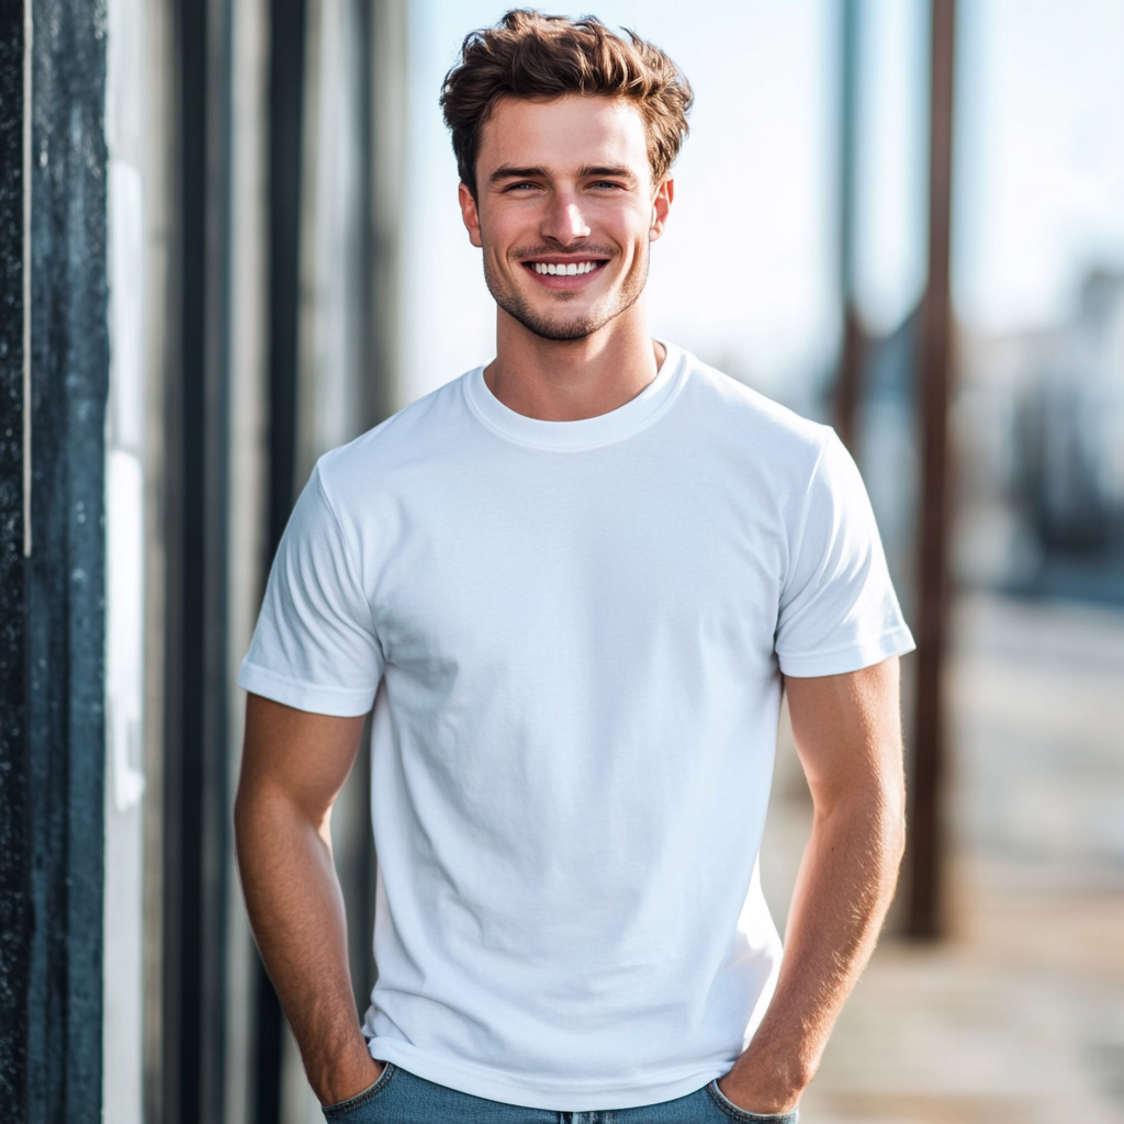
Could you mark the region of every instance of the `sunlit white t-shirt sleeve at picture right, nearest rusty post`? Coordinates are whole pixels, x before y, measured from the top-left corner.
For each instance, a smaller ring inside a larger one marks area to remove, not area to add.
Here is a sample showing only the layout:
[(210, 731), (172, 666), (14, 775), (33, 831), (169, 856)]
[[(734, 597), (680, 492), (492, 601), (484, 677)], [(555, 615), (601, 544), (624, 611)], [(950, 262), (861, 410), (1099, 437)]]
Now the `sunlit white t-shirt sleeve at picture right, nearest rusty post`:
[(913, 651), (867, 489), (832, 433), (790, 532), (776, 650), (787, 676), (858, 671)]

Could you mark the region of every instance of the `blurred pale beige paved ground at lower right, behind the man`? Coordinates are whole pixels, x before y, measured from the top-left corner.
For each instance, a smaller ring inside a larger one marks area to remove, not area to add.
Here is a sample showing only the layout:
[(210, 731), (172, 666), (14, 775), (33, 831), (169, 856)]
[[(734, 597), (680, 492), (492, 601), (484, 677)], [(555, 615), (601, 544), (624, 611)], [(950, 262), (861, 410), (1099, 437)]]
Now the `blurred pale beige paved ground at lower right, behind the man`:
[[(1124, 611), (966, 598), (957, 640), (951, 935), (883, 940), (803, 1120), (1122, 1124)], [(770, 817), (781, 923), (808, 822), (789, 758)]]

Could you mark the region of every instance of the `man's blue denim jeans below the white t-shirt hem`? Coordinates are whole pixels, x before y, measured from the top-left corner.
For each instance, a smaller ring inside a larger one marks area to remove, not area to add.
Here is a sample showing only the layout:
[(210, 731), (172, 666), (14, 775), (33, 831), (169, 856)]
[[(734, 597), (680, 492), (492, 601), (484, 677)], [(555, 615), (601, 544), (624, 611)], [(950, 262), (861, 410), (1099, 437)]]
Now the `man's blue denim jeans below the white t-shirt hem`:
[(797, 1113), (759, 1116), (728, 1102), (718, 1082), (686, 1097), (641, 1108), (596, 1113), (554, 1113), (519, 1108), (446, 1089), (405, 1069), (387, 1063), (379, 1080), (351, 1100), (328, 1105), (324, 1115), (333, 1124), (796, 1124)]

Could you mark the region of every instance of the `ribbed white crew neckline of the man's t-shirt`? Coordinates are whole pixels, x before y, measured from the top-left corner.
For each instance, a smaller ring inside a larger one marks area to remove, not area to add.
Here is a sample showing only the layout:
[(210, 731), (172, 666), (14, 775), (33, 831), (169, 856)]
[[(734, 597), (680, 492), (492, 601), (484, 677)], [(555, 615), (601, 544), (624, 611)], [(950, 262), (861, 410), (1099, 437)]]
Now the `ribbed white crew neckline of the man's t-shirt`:
[(597, 417), (578, 422), (544, 422), (517, 414), (488, 389), (483, 366), (465, 375), (464, 396), (480, 422), (516, 444), (569, 451), (608, 445), (651, 425), (671, 404), (683, 383), (686, 353), (665, 339), (658, 339), (656, 343), (664, 346), (667, 355), (655, 378), (624, 406)]

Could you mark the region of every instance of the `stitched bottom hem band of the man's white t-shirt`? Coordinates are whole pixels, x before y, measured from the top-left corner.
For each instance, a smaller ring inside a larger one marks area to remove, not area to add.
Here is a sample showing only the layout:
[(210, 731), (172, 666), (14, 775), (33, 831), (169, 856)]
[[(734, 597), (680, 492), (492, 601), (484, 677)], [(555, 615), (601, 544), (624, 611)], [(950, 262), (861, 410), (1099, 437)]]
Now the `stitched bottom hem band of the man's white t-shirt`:
[(374, 1037), (368, 1043), (371, 1057), (389, 1061), (415, 1077), (472, 1097), (498, 1100), (520, 1108), (540, 1108), (552, 1113), (589, 1113), (619, 1111), (659, 1105), (674, 1100), (709, 1085), (722, 1077), (729, 1066), (710, 1064), (682, 1073), (673, 1079), (644, 1085), (596, 1084), (581, 1086), (569, 1078), (553, 1082), (517, 1081), (497, 1077), (488, 1070), (463, 1061), (435, 1058), (396, 1039)]

